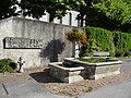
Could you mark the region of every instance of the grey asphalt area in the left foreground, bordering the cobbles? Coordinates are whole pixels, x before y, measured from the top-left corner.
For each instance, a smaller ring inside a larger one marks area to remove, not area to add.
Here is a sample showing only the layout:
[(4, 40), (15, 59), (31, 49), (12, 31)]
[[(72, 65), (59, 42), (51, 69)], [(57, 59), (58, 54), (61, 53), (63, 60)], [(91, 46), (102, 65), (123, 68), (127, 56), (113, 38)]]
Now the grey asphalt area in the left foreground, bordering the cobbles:
[(12, 83), (0, 84), (0, 98), (68, 98), (52, 95), (40, 84), (20, 79)]

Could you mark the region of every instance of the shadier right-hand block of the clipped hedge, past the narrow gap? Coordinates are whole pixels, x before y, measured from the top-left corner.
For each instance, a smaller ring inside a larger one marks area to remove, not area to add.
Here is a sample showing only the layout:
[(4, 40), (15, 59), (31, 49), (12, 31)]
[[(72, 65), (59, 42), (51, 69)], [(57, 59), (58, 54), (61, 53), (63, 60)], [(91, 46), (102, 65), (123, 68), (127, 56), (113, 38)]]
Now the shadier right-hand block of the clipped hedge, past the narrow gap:
[(116, 57), (131, 56), (131, 34), (114, 32)]

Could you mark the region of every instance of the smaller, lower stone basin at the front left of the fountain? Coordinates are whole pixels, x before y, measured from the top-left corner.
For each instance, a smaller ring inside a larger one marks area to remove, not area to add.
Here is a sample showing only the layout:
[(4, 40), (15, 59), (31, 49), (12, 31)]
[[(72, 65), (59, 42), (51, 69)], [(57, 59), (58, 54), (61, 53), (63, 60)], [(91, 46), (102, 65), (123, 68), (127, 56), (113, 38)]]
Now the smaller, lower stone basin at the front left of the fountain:
[(58, 64), (62, 64), (62, 62), (55, 62), (49, 63), (50, 65), (50, 75), (55, 78), (58, 78), (61, 82), (64, 83), (74, 83), (78, 81), (84, 79), (82, 76), (82, 71), (84, 71), (84, 68), (78, 66), (78, 68), (63, 68), (59, 66)]

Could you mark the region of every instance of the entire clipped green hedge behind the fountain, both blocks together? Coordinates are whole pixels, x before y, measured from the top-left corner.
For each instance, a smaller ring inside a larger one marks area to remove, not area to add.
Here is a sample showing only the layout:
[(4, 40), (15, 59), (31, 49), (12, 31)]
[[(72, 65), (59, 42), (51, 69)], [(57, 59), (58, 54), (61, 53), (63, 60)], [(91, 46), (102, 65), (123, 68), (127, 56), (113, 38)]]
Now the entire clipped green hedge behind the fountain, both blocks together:
[(131, 34), (110, 32), (99, 27), (85, 27), (87, 42), (82, 47), (82, 56), (95, 51), (109, 51), (111, 56), (131, 56)]

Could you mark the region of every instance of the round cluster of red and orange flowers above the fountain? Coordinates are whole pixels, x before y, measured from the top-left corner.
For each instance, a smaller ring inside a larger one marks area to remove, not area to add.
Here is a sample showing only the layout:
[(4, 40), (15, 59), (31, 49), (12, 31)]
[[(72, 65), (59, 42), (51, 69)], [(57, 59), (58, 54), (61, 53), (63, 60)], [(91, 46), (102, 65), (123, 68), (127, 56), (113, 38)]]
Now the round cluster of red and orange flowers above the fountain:
[(86, 33), (80, 29), (72, 29), (72, 32), (67, 33), (67, 39), (74, 42), (78, 41), (81, 45), (84, 45), (87, 40)]

